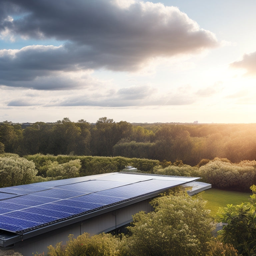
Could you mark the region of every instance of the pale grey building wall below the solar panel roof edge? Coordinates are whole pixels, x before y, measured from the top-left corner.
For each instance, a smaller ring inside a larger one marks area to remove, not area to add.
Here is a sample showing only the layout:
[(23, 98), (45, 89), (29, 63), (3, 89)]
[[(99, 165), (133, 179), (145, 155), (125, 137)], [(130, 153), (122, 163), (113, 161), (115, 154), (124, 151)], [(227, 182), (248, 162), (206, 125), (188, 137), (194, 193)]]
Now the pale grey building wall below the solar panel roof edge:
[(56, 243), (60, 241), (65, 244), (70, 234), (73, 234), (74, 238), (84, 232), (94, 235), (102, 232), (109, 232), (130, 223), (132, 221), (132, 215), (135, 213), (138, 213), (139, 211), (150, 212), (153, 210), (152, 206), (149, 204), (150, 201), (150, 199), (147, 199), (119, 208), (115, 211), (107, 212), (102, 215), (26, 239), (15, 244), (12, 249), (22, 253), (24, 256), (32, 256), (32, 253), (36, 252), (45, 252), (46, 254), (47, 247), (49, 245), (55, 246)]

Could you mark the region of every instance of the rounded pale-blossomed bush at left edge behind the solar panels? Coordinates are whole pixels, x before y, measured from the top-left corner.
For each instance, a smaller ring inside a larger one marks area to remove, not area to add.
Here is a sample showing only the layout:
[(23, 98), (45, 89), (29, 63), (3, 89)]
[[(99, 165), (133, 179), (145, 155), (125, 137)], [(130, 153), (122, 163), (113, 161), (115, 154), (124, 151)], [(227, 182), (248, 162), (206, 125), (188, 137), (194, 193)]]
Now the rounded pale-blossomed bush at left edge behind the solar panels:
[(15, 154), (0, 155), (0, 187), (31, 183), (36, 174), (32, 161)]

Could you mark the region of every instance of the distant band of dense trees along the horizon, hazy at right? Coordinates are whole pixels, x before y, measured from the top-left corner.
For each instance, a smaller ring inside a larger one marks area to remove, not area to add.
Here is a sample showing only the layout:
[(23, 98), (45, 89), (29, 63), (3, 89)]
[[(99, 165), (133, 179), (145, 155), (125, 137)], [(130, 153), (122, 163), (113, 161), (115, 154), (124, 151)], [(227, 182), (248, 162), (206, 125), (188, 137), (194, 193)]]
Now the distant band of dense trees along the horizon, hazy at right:
[(239, 163), (255, 159), (255, 131), (256, 124), (131, 124), (106, 117), (96, 124), (64, 118), (26, 128), (5, 121), (0, 123), (0, 152), (182, 160), (190, 166), (215, 157)]

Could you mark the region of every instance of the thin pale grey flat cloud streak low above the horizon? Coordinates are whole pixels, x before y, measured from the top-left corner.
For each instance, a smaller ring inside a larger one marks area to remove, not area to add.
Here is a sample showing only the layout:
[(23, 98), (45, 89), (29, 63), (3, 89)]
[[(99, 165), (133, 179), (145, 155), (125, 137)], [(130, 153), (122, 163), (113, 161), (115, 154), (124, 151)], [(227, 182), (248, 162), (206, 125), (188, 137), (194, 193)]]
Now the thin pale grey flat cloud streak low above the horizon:
[(180, 93), (157, 93), (150, 86), (130, 87), (123, 89), (111, 89), (108, 91), (68, 96), (58, 101), (49, 102), (47, 107), (52, 106), (97, 106), (97, 107), (133, 107), (133, 106), (157, 106), (157, 105), (188, 105), (195, 99), (187, 94)]

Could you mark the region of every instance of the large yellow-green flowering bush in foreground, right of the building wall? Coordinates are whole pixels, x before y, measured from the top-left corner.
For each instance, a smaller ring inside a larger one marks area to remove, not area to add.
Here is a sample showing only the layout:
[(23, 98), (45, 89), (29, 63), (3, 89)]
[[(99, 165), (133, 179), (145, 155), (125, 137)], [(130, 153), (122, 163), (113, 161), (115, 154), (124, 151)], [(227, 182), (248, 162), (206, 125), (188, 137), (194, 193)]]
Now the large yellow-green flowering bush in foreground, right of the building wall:
[(211, 238), (205, 201), (185, 191), (152, 200), (155, 212), (133, 216), (127, 238), (128, 255), (202, 255)]

